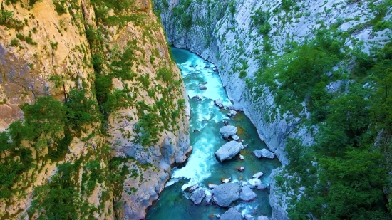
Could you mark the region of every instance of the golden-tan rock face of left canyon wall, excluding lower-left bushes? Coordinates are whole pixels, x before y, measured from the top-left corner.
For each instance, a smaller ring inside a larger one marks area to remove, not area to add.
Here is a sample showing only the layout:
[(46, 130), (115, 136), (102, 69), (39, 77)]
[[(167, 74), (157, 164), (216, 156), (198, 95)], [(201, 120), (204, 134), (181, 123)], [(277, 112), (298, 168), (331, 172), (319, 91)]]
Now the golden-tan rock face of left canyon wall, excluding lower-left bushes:
[[(47, 149), (32, 149), (35, 166), (21, 174), (28, 181), (11, 186), (21, 192), (0, 197), (0, 219), (45, 214), (47, 210), (29, 211), (37, 199), (33, 190), (50, 184), (57, 165), (68, 162), (78, 164), (71, 182), (81, 195), (78, 202), (91, 205), (86, 208), (91, 217), (143, 219), (171, 167), (185, 162), (192, 150), (187, 95), (151, 2), (130, 1), (120, 7), (86, 0), (15, 2), (1, 1), (0, 131), (23, 120), (22, 104), (47, 95), (64, 101), (71, 90), (86, 90), (86, 97), (98, 99), (104, 120), (83, 126), (56, 162), (45, 157)], [(97, 75), (109, 82), (105, 100), (96, 93), (101, 89)], [(6, 156), (1, 152), (0, 162)], [(107, 178), (109, 160), (125, 156), (130, 159), (121, 166), (129, 174), (114, 182), (120, 186), (114, 192), (113, 179)], [(92, 172), (86, 166), (92, 161), (98, 162), (103, 180), (86, 193)]]

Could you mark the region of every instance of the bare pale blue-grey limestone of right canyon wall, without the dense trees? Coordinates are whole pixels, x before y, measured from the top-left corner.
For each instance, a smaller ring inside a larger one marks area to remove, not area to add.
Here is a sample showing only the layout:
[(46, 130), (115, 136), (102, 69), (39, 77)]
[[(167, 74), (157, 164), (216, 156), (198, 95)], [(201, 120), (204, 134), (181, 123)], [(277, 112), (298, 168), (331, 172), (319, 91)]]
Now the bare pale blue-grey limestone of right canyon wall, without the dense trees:
[[(155, 1), (167, 40), (217, 65), (229, 98), (242, 105), (257, 127), (259, 137), (283, 165), (288, 163), (284, 152), (287, 137), (300, 137), (304, 145), (314, 142), (309, 128), (301, 125), (303, 118), (309, 119), (310, 112), (305, 105), (300, 113), (302, 119), (282, 112), (267, 86), (249, 88), (246, 80), (254, 80), (257, 71), (263, 68), (259, 57), (270, 50), (279, 58), (290, 48), (290, 43), (301, 45), (314, 38), (321, 26), (327, 30), (337, 27), (348, 33), (345, 46), (353, 47), (361, 42), (361, 50), (369, 53), (373, 46), (383, 46), (391, 39), (391, 29), (377, 31), (370, 24), (376, 16), (372, 9), (379, 4), (383, 1)], [(269, 14), (264, 18), (269, 23), (264, 34), (252, 24), (252, 16), (262, 11)], [(383, 21), (390, 19), (391, 13), (383, 17)], [(241, 77), (241, 70), (246, 72), (246, 77)], [(256, 90), (262, 90), (262, 95), (255, 96), (259, 94)], [(284, 219), (287, 214), (282, 206), (287, 204), (277, 203), (279, 199), (275, 195), (270, 199), (274, 202), (271, 204), (273, 219)]]

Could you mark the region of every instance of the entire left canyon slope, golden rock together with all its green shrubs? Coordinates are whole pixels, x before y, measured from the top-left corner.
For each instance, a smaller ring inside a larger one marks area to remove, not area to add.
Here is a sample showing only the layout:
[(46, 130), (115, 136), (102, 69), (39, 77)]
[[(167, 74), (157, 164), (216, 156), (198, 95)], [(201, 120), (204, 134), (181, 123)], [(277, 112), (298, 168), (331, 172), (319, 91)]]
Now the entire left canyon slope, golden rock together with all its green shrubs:
[(0, 218), (143, 219), (189, 106), (150, 1), (1, 1)]

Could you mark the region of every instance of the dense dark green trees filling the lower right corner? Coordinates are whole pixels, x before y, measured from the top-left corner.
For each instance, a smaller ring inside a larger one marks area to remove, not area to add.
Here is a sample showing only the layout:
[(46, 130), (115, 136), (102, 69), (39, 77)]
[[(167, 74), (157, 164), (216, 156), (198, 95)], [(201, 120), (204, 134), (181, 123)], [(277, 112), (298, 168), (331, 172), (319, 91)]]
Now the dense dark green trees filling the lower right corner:
[[(325, 83), (317, 84), (311, 99), (324, 108), (323, 117), (314, 120), (320, 122), (316, 144), (304, 147), (298, 140), (287, 140), (287, 171), (298, 174), (301, 186), (306, 187), (301, 199), (292, 203), (290, 219), (308, 219), (309, 214), (331, 220), (392, 217), (391, 192), (386, 190), (391, 187), (388, 172), (392, 168), (392, 44), (387, 43), (373, 58), (353, 53), (353, 73), (363, 69), (363, 81), (372, 88), (353, 83), (346, 93), (331, 98), (322, 89)], [(299, 187), (296, 182), (289, 185)]]

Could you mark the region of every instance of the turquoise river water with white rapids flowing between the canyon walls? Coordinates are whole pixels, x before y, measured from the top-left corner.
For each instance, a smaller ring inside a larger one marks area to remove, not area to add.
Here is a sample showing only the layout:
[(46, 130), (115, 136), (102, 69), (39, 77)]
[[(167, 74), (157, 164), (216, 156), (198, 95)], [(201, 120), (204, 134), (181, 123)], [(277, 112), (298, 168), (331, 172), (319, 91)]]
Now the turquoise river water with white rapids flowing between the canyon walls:
[[(194, 53), (178, 48), (172, 48), (173, 56), (180, 68), (187, 93), (192, 98), (198, 95), (201, 101), (190, 99), (190, 142), (193, 152), (185, 167), (172, 170), (172, 179), (167, 182), (158, 201), (148, 209), (147, 218), (150, 220), (184, 220), (184, 219), (215, 219), (214, 214), (223, 214), (227, 209), (216, 205), (196, 206), (187, 199), (188, 195), (182, 192), (186, 187), (199, 184), (207, 189), (209, 182), (220, 184), (221, 178), (232, 178), (232, 182), (252, 179), (256, 172), (264, 172), (261, 178), (263, 184), (269, 185), (269, 174), (272, 169), (281, 164), (278, 159), (257, 159), (252, 153), (254, 150), (267, 148), (259, 139), (256, 128), (243, 112), (234, 118), (226, 116), (227, 110), (220, 110), (214, 105), (214, 100), (220, 99), (224, 105), (231, 104), (226, 91), (222, 88), (222, 81), (218, 73), (212, 71), (215, 67)], [(210, 65), (211, 68), (205, 68)], [(194, 67), (190, 67), (194, 66)], [(199, 83), (205, 83), (207, 90), (200, 90)], [(217, 162), (215, 151), (227, 141), (220, 137), (219, 130), (223, 121), (229, 125), (239, 127), (237, 135), (244, 139), (244, 144), (249, 147), (240, 152), (244, 160), (235, 157), (229, 161)], [(199, 132), (193, 132), (199, 130)], [(238, 172), (236, 167), (245, 167), (244, 172)], [(242, 211), (242, 214), (271, 216), (268, 190), (257, 190), (257, 199), (252, 202), (235, 201), (232, 206)]]

